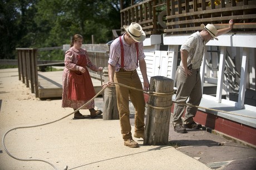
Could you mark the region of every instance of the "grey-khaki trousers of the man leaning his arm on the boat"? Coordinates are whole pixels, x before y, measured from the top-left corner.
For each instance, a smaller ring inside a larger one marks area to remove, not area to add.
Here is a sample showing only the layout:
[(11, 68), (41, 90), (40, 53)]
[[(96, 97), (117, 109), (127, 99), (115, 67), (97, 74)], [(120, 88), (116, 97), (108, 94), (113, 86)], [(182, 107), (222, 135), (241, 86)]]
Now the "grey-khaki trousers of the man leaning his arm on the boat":
[[(175, 75), (175, 83), (177, 87), (176, 93), (176, 102), (186, 103), (186, 100), (189, 98), (188, 103), (199, 106), (202, 92), (201, 92), (201, 78), (200, 78), (200, 70), (192, 69), (192, 75), (186, 77), (183, 67), (179, 66), (176, 75)], [(186, 107), (186, 113), (184, 117), (184, 121), (182, 122), (182, 115), (185, 110), (184, 105), (176, 104), (174, 106), (174, 116), (173, 116), (173, 126), (175, 127), (177, 124), (187, 124), (193, 122), (196, 111), (198, 110), (196, 107)]]

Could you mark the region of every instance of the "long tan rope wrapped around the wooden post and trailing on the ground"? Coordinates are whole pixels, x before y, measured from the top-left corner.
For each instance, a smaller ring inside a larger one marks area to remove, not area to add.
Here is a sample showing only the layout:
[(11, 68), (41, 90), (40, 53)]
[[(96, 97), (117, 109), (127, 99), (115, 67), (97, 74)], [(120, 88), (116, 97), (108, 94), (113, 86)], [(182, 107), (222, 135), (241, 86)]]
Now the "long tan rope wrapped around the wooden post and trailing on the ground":
[[(137, 91), (142, 91), (142, 92), (147, 92), (147, 94), (149, 94), (150, 96), (172, 96), (174, 94), (174, 91), (172, 92), (169, 92), (169, 93), (160, 93), (160, 92), (148, 92), (148, 91), (144, 91), (143, 89), (137, 89), (137, 88), (134, 88), (134, 87), (130, 87), (130, 86), (126, 86), (125, 84), (121, 84), (121, 83), (111, 83), (111, 84), (118, 84), (119, 86), (123, 86), (123, 87), (126, 87), (126, 88), (130, 88), (130, 89), (135, 89)], [(57, 170), (57, 167), (52, 164), (51, 162), (48, 162), (48, 161), (45, 161), (45, 160), (42, 160), (42, 159), (22, 159), (22, 158), (18, 158), (18, 157), (15, 157), (13, 156), (11, 153), (9, 153), (8, 149), (6, 148), (6, 145), (4, 143), (4, 139), (6, 138), (7, 134), (11, 131), (14, 131), (16, 129), (24, 129), (24, 128), (33, 128), (33, 127), (40, 127), (40, 126), (45, 126), (47, 124), (52, 124), (52, 123), (55, 123), (55, 122), (58, 122), (58, 121), (61, 121), (62, 119), (70, 116), (71, 114), (79, 111), (82, 107), (86, 106), (88, 103), (90, 103), (93, 99), (95, 99), (97, 96), (99, 96), (102, 91), (104, 91), (105, 88), (107, 88), (108, 86), (104, 86), (100, 92), (98, 92), (92, 99), (90, 99), (90, 101), (88, 101), (87, 103), (83, 104), (83, 106), (81, 106), (80, 108), (76, 109), (75, 111), (73, 111), (72, 113), (70, 114), (67, 114), (66, 116), (60, 118), (60, 119), (57, 119), (56, 121), (52, 121), (52, 122), (48, 122), (48, 123), (43, 123), (43, 124), (38, 124), (38, 125), (35, 125), (35, 126), (24, 126), (24, 127), (16, 127), (16, 128), (12, 128), (12, 129), (9, 129), (9, 131), (7, 131), (6, 133), (4, 133), (3, 135), (3, 138), (2, 138), (2, 144), (3, 144), (3, 147), (4, 147), (4, 151), (6, 151), (6, 153), (14, 158), (14, 159), (17, 159), (18, 161), (40, 161), (40, 162), (45, 162), (47, 164), (50, 164), (54, 169)], [(173, 101), (173, 103), (179, 103), (179, 102), (175, 102)], [(202, 108), (202, 109), (208, 109), (208, 110), (211, 110), (211, 111), (216, 111), (216, 112), (223, 112), (223, 113), (227, 113), (227, 114), (233, 114), (235, 116), (242, 116), (242, 117), (247, 117), (247, 118), (253, 118), (253, 119), (256, 119), (256, 117), (253, 117), (253, 116), (246, 116), (246, 115), (242, 115), (242, 114), (237, 114), (237, 113), (233, 113), (233, 112), (226, 112), (226, 111), (221, 111), (221, 110), (218, 110), (218, 109), (212, 109), (212, 108), (206, 108), (206, 107), (201, 107), (201, 106), (194, 106), (193, 104), (188, 104), (188, 103), (179, 103), (179, 104), (184, 104), (185, 106), (190, 106), (190, 107), (197, 107), (197, 108)], [(149, 107), (152, 107), (152, 108), (156, 108), (156, 109), (168, 109), (168, 108), (171, 108), (172, 106), (172, 103), (170, 104), (170, 106), (168, 107), (156, 107), (156, 106), (151, 106), (149, 103), (147, 103), (147, 106)], [(64, 168), (64, 170), (67, 169), (67, 166)]]

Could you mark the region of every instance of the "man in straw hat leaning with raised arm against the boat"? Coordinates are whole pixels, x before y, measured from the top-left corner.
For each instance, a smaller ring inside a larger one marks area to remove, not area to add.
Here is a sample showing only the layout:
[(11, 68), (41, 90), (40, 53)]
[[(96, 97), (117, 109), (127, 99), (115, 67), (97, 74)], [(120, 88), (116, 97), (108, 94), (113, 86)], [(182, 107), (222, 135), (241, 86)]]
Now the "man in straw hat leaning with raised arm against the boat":
[[(195, 32), (180, 47), (181, 62), (177, 68), (175, 75), (175, 83), (177, 87), (176, 102), (188, 103), (199, 106), (202, 92), (200, 79), (200, 66), (204, 55), (205, 44), (211, 39), (218, 40), (218, 36), (229, 32), (233, 28), (233, 19), (229, 21), (229, 27), (217, 30), (213, 24), (201, 24), (203, 28), (200, 32)], [(201, 124), (194, 122), (197, 111), (196, 107), (188, 106), (184, 121), (181, 117), (185, 110), (183, 104), (175, 104), (173, 127), (178, 133), (186, 133), (186, 128), (199, 129)]]

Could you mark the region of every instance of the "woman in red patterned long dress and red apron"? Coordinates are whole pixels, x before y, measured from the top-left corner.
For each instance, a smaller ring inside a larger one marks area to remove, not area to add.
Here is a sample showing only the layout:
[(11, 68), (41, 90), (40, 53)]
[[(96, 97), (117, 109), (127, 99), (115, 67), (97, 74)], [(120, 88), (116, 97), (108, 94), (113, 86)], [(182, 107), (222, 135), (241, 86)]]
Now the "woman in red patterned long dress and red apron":
[[(81, 35), (75, 34), (72, 37), (70, 49), (65, 54), (65, 68), (62, 76), (62, 107), (71, 107), (74, 111), (96, 95), (87, 67), (96, 72), (103, 69), (92, 64), (87, 51), (81, 48), (82, 42)], [(101, 110), (96, 111), (94, 107), (95, 103), (92, 100), (81, 109), (89, 109), (91, 118), (95, 118), (102, 112)], [(85, 116), (77, 111), (74, 118), (83, 119)]]

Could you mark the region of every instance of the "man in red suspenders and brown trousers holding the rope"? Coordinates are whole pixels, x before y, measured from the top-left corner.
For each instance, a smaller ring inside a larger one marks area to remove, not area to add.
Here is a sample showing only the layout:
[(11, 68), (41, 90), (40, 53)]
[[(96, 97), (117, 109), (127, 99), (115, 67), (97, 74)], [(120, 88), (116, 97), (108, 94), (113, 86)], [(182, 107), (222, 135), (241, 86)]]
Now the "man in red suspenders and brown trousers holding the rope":
[[(145, 54), (143, 52), (143, 41), (146, 38), (145, 32), (140, 24), (132, 22), (130, 26), (124, 26), (126, 33), (116, 38), (110, 46), (109, 57), (109, 82), (104, 84), (121, 83), (137, 89), (149, 89), (147, 79)], [(144, 80), (144, 88), (137, 74), (136, 68), (140, 66), (140, 71)], [(103, 87), (104, 87), (103, 86)], [(145, 100), (142, 91), (127, 87), (116, 86), (117, 108), (119, 110), (120, 126), (124, 145), (136, 148), (139, 144), (132, 139), (129, 97), (135, 108), (135, 134), (136, 138), (144, 138), (144, 116)]]

